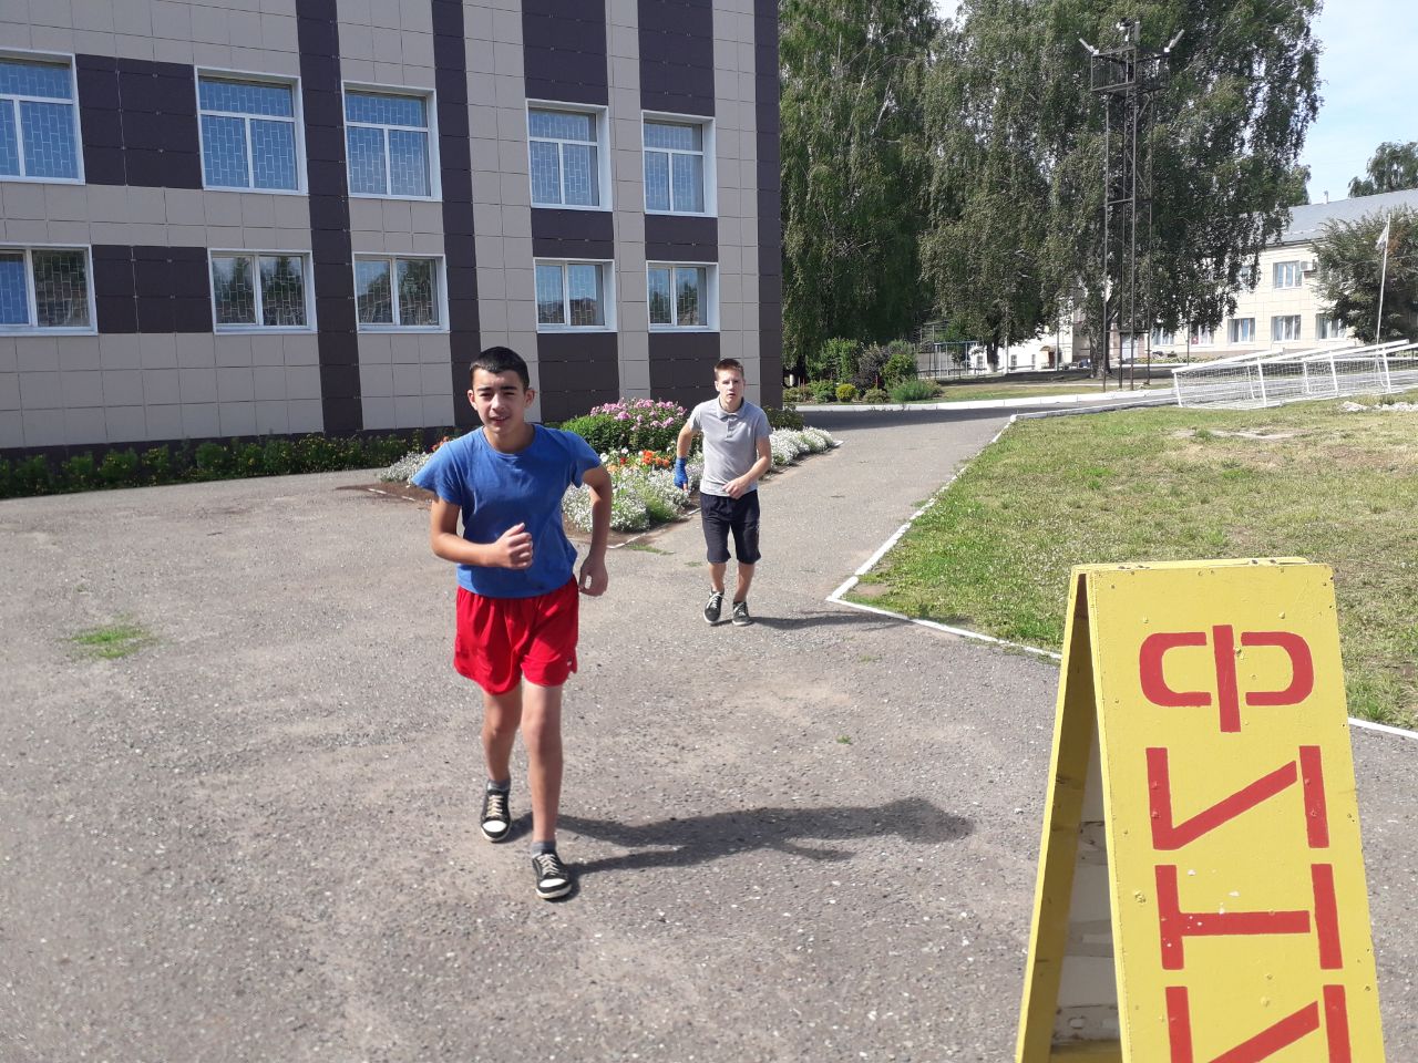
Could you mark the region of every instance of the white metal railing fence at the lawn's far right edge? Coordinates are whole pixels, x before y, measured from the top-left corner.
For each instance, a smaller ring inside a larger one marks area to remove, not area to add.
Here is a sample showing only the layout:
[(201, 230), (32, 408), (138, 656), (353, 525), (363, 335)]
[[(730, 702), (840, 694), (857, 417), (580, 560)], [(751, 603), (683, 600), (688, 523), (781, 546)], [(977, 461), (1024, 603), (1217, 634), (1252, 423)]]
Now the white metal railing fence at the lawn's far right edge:
[(1231, 410), (1404, 391), (1418, 387), (1418, 343), (1238, 354), (1178, 366), (1173, 384), (1177, 405)]

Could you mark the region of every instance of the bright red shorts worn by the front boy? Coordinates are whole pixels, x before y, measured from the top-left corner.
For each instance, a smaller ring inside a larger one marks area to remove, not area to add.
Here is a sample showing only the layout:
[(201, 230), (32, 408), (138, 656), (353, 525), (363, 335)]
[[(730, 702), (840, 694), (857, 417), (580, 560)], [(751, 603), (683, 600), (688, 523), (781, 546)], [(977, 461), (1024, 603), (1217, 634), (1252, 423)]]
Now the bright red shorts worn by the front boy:
[(452, 666), (489, 694), (505, 694), (526, 676), (562, 686), (576, 670), (576, 580), (535, 598), (484, 598), (458, 588)]

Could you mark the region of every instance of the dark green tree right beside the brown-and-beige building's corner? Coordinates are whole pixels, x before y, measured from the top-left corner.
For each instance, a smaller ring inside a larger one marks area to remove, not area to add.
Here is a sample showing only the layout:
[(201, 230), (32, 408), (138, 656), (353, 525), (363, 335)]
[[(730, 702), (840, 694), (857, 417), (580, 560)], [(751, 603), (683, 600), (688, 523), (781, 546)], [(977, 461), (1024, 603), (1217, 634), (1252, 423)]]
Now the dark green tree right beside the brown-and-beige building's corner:
[(783, 340), (801, 370), (832, 336), (888, 340), (927, 305), (930, 0), (783, 0)]

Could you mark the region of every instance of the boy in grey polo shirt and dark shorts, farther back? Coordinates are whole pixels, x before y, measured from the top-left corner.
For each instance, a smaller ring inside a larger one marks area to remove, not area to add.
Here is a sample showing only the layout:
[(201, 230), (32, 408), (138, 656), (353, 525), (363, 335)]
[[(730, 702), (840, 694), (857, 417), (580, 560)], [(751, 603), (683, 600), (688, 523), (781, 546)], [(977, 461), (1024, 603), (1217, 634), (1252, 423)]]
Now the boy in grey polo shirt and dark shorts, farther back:
[(723, 612), (723, 577), (729, 566), (729, 533), (737, 560), (733, 622), (753, 624), (749, 585), (759, 563), (759, 476), (773, 465), (769, 415), (743, 397), (743, 364), (720, 359), (713, 367), (716, 398), (700, 403), (679, 429), (675, 446), (675, 486), (689, 488), (685, 463), (695, 432), (705, 437), (705, 472), (699, 480), (699, 514), (709, 558), (709, 601), (705, 619), (718, 624)]

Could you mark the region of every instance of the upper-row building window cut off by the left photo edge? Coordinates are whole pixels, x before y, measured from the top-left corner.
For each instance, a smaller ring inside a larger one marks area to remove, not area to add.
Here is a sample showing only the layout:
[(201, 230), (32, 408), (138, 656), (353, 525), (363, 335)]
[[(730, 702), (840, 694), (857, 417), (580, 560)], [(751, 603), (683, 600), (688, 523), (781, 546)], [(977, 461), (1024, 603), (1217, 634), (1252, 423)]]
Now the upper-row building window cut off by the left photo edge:
[(67, 62), (0, 58), (0, 177), (79, 180), (75, 119)]

